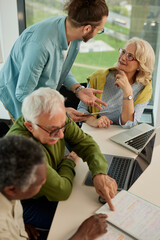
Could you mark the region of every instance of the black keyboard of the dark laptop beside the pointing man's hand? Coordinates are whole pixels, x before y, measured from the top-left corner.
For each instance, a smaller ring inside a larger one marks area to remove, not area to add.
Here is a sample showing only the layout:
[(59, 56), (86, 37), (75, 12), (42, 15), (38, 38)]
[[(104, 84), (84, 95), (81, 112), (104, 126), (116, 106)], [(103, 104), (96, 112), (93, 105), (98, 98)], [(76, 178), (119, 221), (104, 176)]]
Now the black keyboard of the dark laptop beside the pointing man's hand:
[(123, 189), (131, 159), (114, 157), (110, 165), (108, 175), (114, 178), (117, 182), (118, 188)]

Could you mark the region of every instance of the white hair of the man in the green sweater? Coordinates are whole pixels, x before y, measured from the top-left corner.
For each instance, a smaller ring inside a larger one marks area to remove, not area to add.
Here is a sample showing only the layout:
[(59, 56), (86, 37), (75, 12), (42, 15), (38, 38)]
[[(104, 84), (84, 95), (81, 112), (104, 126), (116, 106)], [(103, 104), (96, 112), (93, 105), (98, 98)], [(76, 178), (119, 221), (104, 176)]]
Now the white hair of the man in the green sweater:
[(28, 95), (22, 103), (22, 114), (25, 121), (36, 123), (42, 113), (49, 113), (50, 117), (64, 105), (64, 97), (51, 88), (39, 88)]

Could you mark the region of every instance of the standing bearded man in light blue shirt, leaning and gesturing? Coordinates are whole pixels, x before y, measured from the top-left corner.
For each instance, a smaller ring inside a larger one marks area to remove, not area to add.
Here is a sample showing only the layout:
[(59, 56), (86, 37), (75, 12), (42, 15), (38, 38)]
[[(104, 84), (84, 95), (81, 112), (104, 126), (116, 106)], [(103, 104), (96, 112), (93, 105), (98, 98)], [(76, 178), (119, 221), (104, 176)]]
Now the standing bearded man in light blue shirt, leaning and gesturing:
[[(70, 69), (78, 54), (81, 41), (87, 42), (103, 32), (108, 16), (105, 0), (69, 0), (67, 17), (51, 17), (27, 28), (15, 42), (0, 72), (0, 100), (17, 119), (23, 99), (40, 87), (59, 90), (64, 84), (86, 105), (106, 103), (83, 88)], [(83, 113), (67, 110), (73, 120), (85, 120)]]

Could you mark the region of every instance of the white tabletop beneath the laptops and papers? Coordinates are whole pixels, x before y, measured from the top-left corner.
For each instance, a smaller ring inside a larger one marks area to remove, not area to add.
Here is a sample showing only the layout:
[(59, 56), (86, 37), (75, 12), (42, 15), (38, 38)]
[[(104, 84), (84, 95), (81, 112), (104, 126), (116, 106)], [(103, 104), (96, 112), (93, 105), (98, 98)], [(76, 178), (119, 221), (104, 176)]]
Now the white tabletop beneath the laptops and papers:
[[(109, 129), (97, 129), (83, 124), (83, 130), (90, 134), (100, 146), (102, 153), (135, 157), (136, 154), (109, 140), (109, 137), (121, 131), (120, 126)], [(160, 143), (160, 136), (156, 138)], [(160, 206), (160, 146), (156, 144), (153, 161), (141, 177), (131, 187), (130, 192)], [(76, 166), (76, 177), (71, 196), (58, 204), (48, 240), (64, 240), (90, 215), (101, 206), (94, 187), (85, 186), (84, 179), (88, 166), (82, 160)]]

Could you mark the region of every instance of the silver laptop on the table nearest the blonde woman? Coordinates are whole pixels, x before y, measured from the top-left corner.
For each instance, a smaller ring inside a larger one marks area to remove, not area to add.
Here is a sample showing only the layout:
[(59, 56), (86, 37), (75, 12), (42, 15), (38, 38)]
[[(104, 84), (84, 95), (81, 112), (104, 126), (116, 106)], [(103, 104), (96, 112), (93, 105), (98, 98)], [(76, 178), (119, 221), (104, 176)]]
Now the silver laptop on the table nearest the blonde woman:
[(110, 139), (138, 154), (141, 152), (153, 131), (154, 127), (147, 123), (141, 123), (131, 129), (112, 136)]

